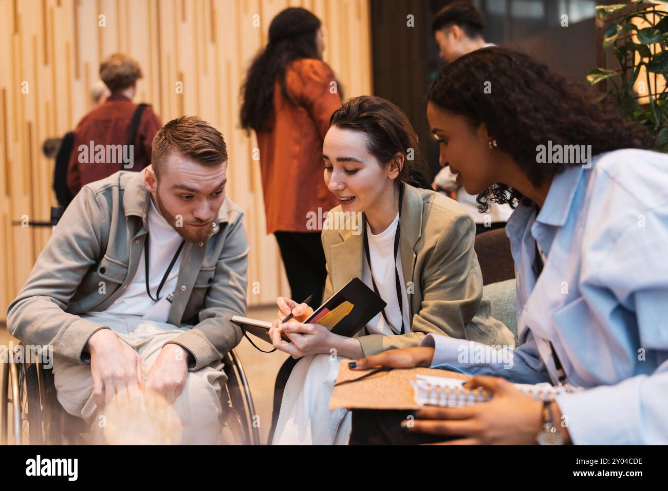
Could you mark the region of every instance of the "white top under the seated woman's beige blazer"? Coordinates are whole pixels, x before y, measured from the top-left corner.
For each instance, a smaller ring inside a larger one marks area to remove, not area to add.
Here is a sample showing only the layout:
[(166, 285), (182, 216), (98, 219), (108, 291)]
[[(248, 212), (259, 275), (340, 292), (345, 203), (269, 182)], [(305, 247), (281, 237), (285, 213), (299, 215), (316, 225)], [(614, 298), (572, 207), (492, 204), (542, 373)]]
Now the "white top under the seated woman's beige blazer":
[[(401, 301), (403, 302), (403, 326), (404, 333), (411, 331), (411, 324), (409, 322), (409, 308), (408, 299), (406, 295), (406, 284), (403, 281), (403, 272), (401, 271), (401, 255), (397, 253), (397, 263), (394, 263), (394, 234), (397, 231), (397, 224), (399, 223), (399, 214), (395, 216), (393, 222), (389, 224), (385, 230), (377, 235), (371, 233), (369, 224), (367, 227), (367, 237), (369, 238), (369, 255), (371, 256), (371, 268), (373, 269), (373, 279), (375, 279), (376, 287), (381, 299), (387, 303), (385, 307), (385, 315), (392, 324), (394, 330), (401, 332), (401, 312), (399, 311), (399, 303), (397, 302), (397, 285), (395, 280), (395, 271), (398, 268), (399, 281), (401, 281)], [(366, 255), (363, 259), (362, 281), (373, 290), (373, 283), (371, 282), (371, 272), (367, 263)], [(394, 334), (392, 329), (385, 323), (383, 314), (378, 313), (367, 324), (367, 331), (369, 334)]]

